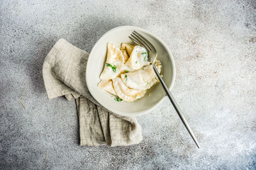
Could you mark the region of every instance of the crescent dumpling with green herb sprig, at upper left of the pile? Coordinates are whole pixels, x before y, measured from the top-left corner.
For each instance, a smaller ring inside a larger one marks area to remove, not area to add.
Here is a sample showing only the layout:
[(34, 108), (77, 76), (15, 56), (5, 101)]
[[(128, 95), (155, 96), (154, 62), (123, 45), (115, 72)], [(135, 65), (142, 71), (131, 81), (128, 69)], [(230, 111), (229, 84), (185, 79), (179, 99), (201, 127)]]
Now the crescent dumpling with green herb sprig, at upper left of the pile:
[(107, 60), (104, 70), (100, 74), (101, 80), (109, 80), (115, 78), (124, 67), (124, 55), (112, 43), (108, 43)]

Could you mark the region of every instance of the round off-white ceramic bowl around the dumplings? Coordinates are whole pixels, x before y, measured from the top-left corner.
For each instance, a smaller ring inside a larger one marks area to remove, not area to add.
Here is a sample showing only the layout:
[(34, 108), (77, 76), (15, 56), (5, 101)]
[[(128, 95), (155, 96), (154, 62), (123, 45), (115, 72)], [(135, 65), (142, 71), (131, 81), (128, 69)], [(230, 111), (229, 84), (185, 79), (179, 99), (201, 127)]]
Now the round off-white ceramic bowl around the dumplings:
[(165, 96), (161, 83), (157, 83), (152, 90), (149, 90), (150, 92), (147, 92), (145, 97), (134, 102), (117, 102), (113, 95), (97, 87), (100, 82), (100, 73), (106, 61), (107, 43), (118, 45), (124, 42), (132, 44), (131, 39), (128, 37), (132, 31), (140, 32), (156, 48), (157, 58), (163, 66), (164, 83), (171, 90), (175, 80), (175, 64), (172, 52), (160, 38), (139, 27), (121, 26), (106, 32), (93, 46), (86, 66), (86, 83), (94, 99), (109, 111), (129, 117), (143, 115), (152, 111), (163, 101)]

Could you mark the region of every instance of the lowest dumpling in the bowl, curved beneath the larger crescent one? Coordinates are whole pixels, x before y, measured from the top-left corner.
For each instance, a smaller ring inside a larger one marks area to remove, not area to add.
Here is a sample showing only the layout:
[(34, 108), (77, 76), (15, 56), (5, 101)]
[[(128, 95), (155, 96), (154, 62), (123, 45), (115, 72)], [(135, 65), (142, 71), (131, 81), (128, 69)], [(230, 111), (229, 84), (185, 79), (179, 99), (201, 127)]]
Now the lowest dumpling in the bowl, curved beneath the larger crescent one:
[(116, 96), (120, 97), (121, 99), (127, 102), (140, 99), (141, 97), (145, 96), (147, 92), (146, 90), (141, 91), (141, 90), (130, 89), (125, 85), (125, 83), (119, 77), (113, 78), (112, 81), (113, 81), (113, 87), (116, 92)]

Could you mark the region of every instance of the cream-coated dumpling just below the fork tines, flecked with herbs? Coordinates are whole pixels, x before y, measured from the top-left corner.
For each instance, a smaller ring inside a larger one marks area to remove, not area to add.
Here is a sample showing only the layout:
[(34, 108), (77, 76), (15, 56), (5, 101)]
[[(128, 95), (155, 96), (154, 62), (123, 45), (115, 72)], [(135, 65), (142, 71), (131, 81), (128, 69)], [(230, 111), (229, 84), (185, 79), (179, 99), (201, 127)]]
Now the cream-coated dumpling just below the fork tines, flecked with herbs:
[(149, 64), (147, 50), (142, 46), (134, 46), (129, 59), (125, 62), (124, 70), (135, 71)]

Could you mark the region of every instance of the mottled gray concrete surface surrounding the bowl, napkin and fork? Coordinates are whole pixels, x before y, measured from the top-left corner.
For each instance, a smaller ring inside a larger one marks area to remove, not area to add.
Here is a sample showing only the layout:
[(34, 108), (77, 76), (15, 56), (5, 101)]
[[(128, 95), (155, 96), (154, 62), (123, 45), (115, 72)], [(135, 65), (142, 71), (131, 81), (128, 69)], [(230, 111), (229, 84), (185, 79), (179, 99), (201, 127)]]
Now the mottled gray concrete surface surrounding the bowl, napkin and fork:
[[(90, 52), (136, 25), (171, 48), (173, 96), (138, 117), (140, 145), (79, 146), (74, 101), (47, 99), (42, 63), (65, 38)], [(0, 1), (0, 169), (256, 169), (255, 1)]]

